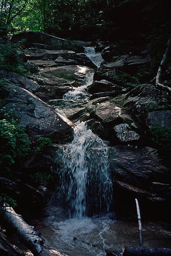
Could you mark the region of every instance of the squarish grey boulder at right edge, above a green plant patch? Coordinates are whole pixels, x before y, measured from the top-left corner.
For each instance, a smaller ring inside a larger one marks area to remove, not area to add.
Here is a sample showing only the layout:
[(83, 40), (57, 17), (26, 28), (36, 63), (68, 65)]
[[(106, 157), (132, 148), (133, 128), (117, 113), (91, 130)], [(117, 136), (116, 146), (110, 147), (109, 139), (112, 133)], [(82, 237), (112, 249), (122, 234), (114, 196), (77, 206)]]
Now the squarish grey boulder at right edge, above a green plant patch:
[(171, 111), (153, 111), (149, 112), (146, 116), (146, 125), (151, 128), (152, 126), (165, 126), (171, 128)]

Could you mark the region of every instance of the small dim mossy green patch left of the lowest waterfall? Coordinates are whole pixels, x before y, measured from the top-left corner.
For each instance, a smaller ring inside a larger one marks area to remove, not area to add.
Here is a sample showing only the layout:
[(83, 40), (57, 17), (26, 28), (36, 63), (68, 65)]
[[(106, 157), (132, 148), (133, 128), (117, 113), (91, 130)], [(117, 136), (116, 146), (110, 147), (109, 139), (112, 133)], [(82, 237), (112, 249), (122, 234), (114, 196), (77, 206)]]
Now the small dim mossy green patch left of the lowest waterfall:
[(36, 182), (44, 186), (50, 186), (54, 182), (54, 178), (56, 176), (53, 172), (36, 172), (31, 175), (31, 179), (36, 180)]

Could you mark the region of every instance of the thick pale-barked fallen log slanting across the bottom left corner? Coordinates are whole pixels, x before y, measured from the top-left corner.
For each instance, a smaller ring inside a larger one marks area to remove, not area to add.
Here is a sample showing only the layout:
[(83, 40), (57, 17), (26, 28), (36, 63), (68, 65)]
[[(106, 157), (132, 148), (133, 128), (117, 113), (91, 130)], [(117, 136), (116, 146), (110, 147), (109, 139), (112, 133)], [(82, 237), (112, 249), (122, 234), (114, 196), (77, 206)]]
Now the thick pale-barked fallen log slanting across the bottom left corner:
[(41, 233), (36, 232), (34, 227), (28, 225), (12, 207), (0, 207), (0, 216), (10, 227), (14, 228), (20, 241), (31, 250), (34, 256), (51, 256)]

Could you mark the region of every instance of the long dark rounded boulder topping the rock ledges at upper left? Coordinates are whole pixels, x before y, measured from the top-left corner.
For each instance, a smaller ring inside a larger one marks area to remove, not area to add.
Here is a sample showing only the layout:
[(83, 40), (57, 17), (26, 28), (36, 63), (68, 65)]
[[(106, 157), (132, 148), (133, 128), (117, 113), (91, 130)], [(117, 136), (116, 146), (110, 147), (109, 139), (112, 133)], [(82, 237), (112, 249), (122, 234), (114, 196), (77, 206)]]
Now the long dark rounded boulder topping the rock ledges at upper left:
[(23, 32), (20, 34), (15, 34), (12, 36), (11, 41), (17, 43), (22, 39), (26, 40), (26, 43), (38, 43), (38, 44), (47, 44), (50, 46), (57, 47), (58, 49), (70, 49), (73, 48), (78, 52), (83, 51), (83, 46), (77, 43), (76, 41), (69, 41), (63, 38), (58, 38), (53, 35), (48, 35), (43, 32)]

